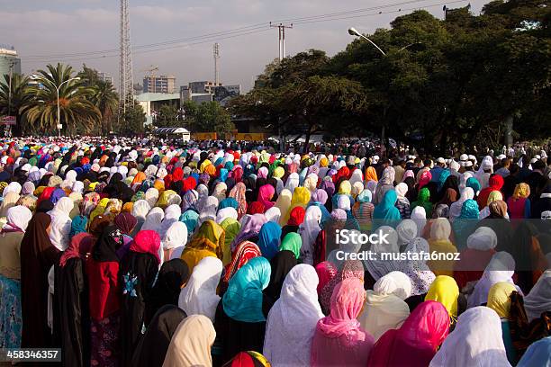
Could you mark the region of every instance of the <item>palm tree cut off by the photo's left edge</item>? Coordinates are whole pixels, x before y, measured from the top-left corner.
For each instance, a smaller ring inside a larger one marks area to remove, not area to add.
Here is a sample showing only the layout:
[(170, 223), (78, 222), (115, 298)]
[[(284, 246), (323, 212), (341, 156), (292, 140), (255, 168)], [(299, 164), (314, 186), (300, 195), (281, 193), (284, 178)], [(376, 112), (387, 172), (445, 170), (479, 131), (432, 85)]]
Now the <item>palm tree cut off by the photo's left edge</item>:
[(0, 81), (0, 113), (15, 116), (15, 126), (12, 127), (14, 135), (21, 135), (23, 131), (23, 109), (31, 101), (31, 95), (27, 94), (29, 78), (20, 74), (12, 75), (12, 93), (10, 94), (10, 76), (5, 74)]

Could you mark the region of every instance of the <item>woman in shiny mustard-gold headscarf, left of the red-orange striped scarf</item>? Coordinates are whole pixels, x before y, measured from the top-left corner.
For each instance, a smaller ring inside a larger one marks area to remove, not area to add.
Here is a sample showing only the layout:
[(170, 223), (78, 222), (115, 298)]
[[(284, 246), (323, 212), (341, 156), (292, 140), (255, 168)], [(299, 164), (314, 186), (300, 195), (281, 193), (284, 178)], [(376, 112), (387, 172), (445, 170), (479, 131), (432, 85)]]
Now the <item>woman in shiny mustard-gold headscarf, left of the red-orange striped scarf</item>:
[(203, 222), (194, 237), (185, 246), (181, 259), (185, 261), (189, 271), (193, 273), (195, 265), (203, 257), (212, 256), (222, 259), (224, 242), (224, 229), (215, 221), (207, 220)]

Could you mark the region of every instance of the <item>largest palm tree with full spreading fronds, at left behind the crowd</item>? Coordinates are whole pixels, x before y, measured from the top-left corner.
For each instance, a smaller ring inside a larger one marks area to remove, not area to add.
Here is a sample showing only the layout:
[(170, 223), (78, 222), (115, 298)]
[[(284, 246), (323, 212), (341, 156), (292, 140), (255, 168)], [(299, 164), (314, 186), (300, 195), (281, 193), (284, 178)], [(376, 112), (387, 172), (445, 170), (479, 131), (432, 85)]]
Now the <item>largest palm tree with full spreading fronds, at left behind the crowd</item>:
[(67, 128), (68, 134), (94, 130), (101, 122), (101, 112), (91, 101), (92, 88), (84, 86), (81, 81), (69, 81), (73, 74), (70, 66), (58, 63), (56, 67), (48, 65), (47, 68), (48, 71), (38, 71), (41, 85), (28, 89), (33, 97), (26, 108), (29, 122), (42, 131), (55, 130), (58, 123)]

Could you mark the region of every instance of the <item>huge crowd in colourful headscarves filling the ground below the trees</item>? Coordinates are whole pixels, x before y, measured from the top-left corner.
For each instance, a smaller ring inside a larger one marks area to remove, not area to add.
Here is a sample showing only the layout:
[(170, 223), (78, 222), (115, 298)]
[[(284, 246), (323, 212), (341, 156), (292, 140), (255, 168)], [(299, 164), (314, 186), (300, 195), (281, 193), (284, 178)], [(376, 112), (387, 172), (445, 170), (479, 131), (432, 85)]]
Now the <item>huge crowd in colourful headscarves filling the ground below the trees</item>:
[[(0, 348), (70, 367), (548, 366), (546, 150), (346, 150), (0, 140)], [(459, 260), (342, 257), (367, 249)]]

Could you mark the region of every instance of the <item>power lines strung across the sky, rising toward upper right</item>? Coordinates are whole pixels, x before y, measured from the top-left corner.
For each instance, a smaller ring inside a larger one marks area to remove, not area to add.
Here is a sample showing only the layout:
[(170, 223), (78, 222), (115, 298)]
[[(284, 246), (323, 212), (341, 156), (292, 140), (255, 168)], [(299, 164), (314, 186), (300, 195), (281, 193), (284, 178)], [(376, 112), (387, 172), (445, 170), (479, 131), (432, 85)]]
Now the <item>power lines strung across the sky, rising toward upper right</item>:
[[(396, 4), (384, 4), (384, 5), (374, 6), (374, 7), (366, 8), (366, 9), (377, 10), (377, 9), (388, 8), (388, 7), (397, 6), (397, 5), (401, 5), (401, 4), (425, 3), (427, 1), (428, 0), (411, 0), (411, 1), (396, 3)], [(296, 22), (294, 22), (294, 25), (303, 25), (303, 24), (310, 24), (310, 23), (316, 23), (316, 22), (333, 22), (333, 21), (339, 21), (339, 20), (355, 19), (355, 18), (376, 16), (376, 15), (389, 14), (389, 13), (402, 13), (402, 12), (407, 12), (407, 11), (411, 11), (411, 10), (426, 9), (426, 8), (430, 8), (430, 7), (441, 6), (443, 4), (456, 4), (456, 3), (466, 2), (466, 1), (468, 1), (468, 0), (451, 0), (451, 1), (447, 1), (447, 2), (441, 2), (441, 3), (438, 3), (438, 4), (427, 4), (427, 5), (423, 5), (423, 6), (411, 7), (411, 8), (405, 8), (405, 9), (399, 8), (399, 9), (392, 10), (392, 11), (386, 11), (386, 12), (379, 11), (377, 13), (366, 13), (366, 14), (357, 14), (361, 10), (321, 14), (321, 15), (315, 15), (315, 16), (311, 16), (311, 17), (294, 18), (294, 19), (296, 19)], [(364, 10), (364, 11), (366, 11), (366, 10)], [(355, 14), (347, 16), (348, 13), (349, 14), (355, 13)], [(290, 20), (294, 20), (294, 19), (290, 19)], [(279, 22), (279, 21), (274, 21), (274, 22)], [(263, 24), (263, 25), (259, 25), (259, 24)], [(230, 30), (230, 31), (219, 31), (219, 32), (215, 32), (215, 33), (204, 34), (202, 36), (190, 37), (190, 38), (182, 39), (182, 40), (167, 40), (167, 41), (164, 41), (164, 42), (151, 43), (151, 44), (148, 44), (148, 45), (140, 45), (136, 48), (133, 48), (133, 49), (137, 49), (137, 50), (132, 52), (132, 54), (134, 54), (134, 55), (136, 55), (136, 54), (146, 54), (146, 53), (150, 53), (150, 52), (158, 52), (158, 51), (163, 51), (163, 50), (168, 50), (168, 49), (181, 49), (181, 48), (184, 48), (184, 47), (188, 48), (190, 46), (200, 45), (200, 44), (203, 44), (203, 43), (211, 43), (212, 41), (228, 40), (228, 39), (233, 39), (233, 38), (242, 37), (242, 36), (255, 34), (255, 33), (261, 33), (261, 32), (270, 31), (270, 30), (271, 29), (269, 27), (269, 23), (257, 23), (257, 24), (253, 24), (251, 26), (239, 27), (239, 28), (236, 28), (236, 29)], [(196, 41), (194, 41), (194, 40), (196, 40)], [(165, 45), (167, 45), (167, 46), (172, 45), (172, 46), (162, 47), (162, 46), (165, 46)], [(22, 58), (24, 58), (26, 62), (36, 62), (36, 63), (38, 63), (38, 62), (43, 63), (43, 62), (57, 61), (57, 60), (63, 60), (63, 61), (80, 61), (80, 60), (83, 60), (83, 61), (86, 61), (86, 60), (90, 60), (90, 59), (118, 57), (119, 56), (118, 53), (117, 53), (118, 51), (119, 51), (119, 49), (113, 49), (113, 50), (105, 50), (105, 51), (88, 51), (88, 52), (59, 54), (59, 55), (54, 54), (54, 55), (44, 56), (44, 57), (38, 57), (37, 56), (35, 58), (32, 58), (32, 57), (22, 57)], [(102, 53), (104, 53), (104, 55), (101, 55)], [(97, 54), (99, 54), (99, 55), (97, 55)], [(88, 57), (85, 58), (84, 57), (85, 55), (91, 55), (91, 56), (88, 56)], [(94, 55), (97, 55), (97, 56), (94, 56)]]

